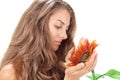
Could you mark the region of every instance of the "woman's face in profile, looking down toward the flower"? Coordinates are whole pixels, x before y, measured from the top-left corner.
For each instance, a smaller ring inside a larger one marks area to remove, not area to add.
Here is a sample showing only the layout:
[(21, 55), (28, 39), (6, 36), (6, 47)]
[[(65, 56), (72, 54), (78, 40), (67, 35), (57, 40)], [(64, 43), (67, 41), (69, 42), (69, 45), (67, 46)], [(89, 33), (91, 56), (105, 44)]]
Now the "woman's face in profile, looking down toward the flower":
[(70, 24), (70, 14), (66, 9), (56, 10), (49, 19), (51, 46), (56, 51), (61, 42), (67, 39), (67, 30)]

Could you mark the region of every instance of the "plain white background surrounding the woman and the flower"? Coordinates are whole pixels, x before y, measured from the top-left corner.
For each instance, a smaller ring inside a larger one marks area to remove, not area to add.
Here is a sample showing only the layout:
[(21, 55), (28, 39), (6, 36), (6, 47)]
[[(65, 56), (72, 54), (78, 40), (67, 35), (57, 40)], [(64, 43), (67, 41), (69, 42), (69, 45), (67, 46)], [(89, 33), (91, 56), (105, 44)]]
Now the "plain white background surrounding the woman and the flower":
[[(33, 0), (0, 0), (0, 60), (11, 40), (12, 33), (23, 12)], [(120, 1), (119, 0), (65, 0), (74, 9), (77, 19), (75, 44), (81, 37), (97, 40), (99, 46), (97, 73), (109, 69), (120, 71)], [(81, 80), (89, 80), (86, 75)], [(114, 80), (109, 77), (99, 80)]]

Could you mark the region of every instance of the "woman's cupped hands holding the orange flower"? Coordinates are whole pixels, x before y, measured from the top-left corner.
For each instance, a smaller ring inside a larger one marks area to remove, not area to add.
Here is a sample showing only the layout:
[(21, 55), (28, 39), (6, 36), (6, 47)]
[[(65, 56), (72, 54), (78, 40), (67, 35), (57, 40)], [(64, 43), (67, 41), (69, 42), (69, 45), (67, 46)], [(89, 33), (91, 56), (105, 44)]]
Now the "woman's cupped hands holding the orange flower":
[[(74, 48), (72, 48), (67, 56), (66, 56), (66, 64), (71, 63), (68, 59), (71, 54), (74, 52)], [(92, 71), (97, 62), (97, 53), (93, 52), (89, 60), (85, 63), (78, 63), (75, 66), (66, 66), (65, 70), (65, 78), (64, 80), (79, 80), (79, 78), (88, 72)]]

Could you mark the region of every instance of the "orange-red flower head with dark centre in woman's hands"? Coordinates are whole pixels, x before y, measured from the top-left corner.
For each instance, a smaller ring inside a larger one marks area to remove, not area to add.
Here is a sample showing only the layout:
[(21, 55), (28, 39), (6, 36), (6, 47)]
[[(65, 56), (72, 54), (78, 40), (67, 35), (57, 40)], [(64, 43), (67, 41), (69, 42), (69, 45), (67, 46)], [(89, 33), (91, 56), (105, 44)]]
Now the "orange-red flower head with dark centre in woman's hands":
[(74, 66), (79, 62), (86, 62), (97, 46), (98, 44), (96, 43), (96, 40), (93, 40), (90, 43), (88, 39), (81, 38), (77, 49), (69, 58), (71, 63), (69, 63), (68, 66)]

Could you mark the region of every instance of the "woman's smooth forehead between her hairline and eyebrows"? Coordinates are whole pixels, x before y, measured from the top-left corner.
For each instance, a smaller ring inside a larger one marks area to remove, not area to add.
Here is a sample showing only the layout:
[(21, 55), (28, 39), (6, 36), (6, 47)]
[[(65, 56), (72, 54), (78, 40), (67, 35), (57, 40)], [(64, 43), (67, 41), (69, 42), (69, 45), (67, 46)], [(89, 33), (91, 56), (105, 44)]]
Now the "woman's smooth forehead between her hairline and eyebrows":
[(50, 16), (50, 20), (52, 21), (60, 20), (64, 22), (66, 25), (69, 25), (70, 13), (66, 9), (60, 8), (52, 13), (52, 15)]

